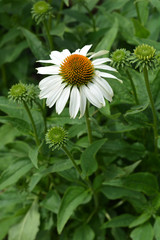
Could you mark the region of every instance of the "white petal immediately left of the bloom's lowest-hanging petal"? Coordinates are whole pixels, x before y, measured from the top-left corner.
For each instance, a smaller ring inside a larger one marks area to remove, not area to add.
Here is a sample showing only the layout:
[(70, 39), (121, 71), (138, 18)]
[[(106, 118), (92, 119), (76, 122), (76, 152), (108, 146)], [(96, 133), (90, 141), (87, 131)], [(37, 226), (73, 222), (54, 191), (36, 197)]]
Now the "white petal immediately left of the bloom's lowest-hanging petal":
[(56, 102), (56, 112), (58, 114), (60, 114), (63, 111), (63, 109), (68, 101), (70, 89), (71, 89), (70, 86), (64, 88), (63, 92), (61, 93), (61, 96), (58, 98), (58, 100)]

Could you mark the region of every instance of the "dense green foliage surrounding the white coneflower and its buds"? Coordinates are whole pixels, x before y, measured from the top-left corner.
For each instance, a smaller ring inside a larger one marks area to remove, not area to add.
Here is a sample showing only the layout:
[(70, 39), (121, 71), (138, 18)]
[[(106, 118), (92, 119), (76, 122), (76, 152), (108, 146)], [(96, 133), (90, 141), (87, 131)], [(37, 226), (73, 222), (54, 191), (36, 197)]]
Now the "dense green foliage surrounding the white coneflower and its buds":
[[(146, 43), (160, 51), (159, 0), (48, 2), (54, 50), (93, 44), (93, 51), (133, 51)], [(36, 61), (48, 59), (51, 51), (44, 25), (32, 19), (34, 3), (0, 0), (0, 240), (160, 240), (160, 158), (142, 73), (130, 69), (138, 106), (124, 72), (123, 84), (109, 80), (112, 103), (89, 109), (90, 146), (84, 118), (70, 119), (68, 108), (59, 116), (47, 109), (47, 127), (65, 127), (68, 148), (92, 187), (61, 150), (48, 149), (38, 105), (31, 113), (41, 147), (23, 105), (8, 100), (13, 84), (38, 85)], [(159, 127), (160, 71), (149, 72), (149, 79)]]

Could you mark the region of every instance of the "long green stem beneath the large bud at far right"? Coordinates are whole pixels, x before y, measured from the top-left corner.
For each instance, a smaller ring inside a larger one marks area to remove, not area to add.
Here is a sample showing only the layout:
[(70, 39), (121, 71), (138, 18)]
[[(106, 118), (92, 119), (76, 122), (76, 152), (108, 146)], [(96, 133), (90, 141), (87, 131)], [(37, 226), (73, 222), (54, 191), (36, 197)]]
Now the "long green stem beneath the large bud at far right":
[(157, 148), (157, 144), (158, 144), (157, 116), (156, 116), (156, 109), (154, 106), (154, 101), (153, 101), (153, 97), (152, 97), (152, 93), (151, 93), (151, 89), (150, 89), (150, 84), (149, 84), (149, 79), (148, 79), (148, 71), (147, 71), (146, 67), (143, 68), (143, 74), (144, 74), (146, 89), (148, 92), (151, 109), (152, 109), (152, 114), (153, 114), (154, 145), (155, 145), (155, 153), (157, 153), (157, 151), (158, 151), (158, 148)]

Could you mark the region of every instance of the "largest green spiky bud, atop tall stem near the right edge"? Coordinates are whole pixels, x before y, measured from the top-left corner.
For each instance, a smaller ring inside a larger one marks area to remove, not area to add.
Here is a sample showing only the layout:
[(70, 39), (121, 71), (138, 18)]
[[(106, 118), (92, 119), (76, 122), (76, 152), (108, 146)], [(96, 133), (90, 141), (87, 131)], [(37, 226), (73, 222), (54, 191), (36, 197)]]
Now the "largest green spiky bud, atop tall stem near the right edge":
[(134, 49), (134, 53), (130, 57), (130, 62), (135, 64), (135, 68), (139, 68), (140, 72), (144, 67), (147, 70), (153, 70), (158, 66), (156, 49), (147, 44), (139, 45)]

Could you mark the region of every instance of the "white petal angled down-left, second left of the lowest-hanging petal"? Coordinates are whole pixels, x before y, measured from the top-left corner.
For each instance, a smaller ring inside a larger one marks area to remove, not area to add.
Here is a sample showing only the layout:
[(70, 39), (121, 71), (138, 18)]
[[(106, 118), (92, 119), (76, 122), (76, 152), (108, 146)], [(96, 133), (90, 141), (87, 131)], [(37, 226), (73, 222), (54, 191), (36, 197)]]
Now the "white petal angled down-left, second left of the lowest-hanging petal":
[(47, 106), (49, 106), (51, 108), (55, 104), (55, 102), (61, 95), (65, 86), (66, 86), (66, 84), (62, 83), (60, 86), (58, 86), (55, 89), (53, 94), (52, 93), (50, 94), (50, 96), (47, 98), (47, 101), (46, 101)]

